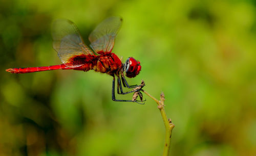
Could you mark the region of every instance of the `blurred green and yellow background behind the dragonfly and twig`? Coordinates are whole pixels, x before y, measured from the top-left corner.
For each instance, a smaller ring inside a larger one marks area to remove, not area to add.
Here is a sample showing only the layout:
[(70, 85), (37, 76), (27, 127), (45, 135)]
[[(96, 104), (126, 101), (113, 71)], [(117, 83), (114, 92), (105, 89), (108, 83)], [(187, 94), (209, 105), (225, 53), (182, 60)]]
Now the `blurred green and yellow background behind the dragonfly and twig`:
[(172, 155), (256, 155), (256, 3), (249, 0), (0, 0), (0, 155), (162, 154), (156, 103), (146, 95), (145, 105), (112, 101), (111, 76), (5, 72), (61, 64), (54, 19), (74, 21), (89, 43), (109, 16), (123, 18), (114, 53), (141, 62), (130, 84), (143, 79), (148, 93), (165, 94), (176, 125)]

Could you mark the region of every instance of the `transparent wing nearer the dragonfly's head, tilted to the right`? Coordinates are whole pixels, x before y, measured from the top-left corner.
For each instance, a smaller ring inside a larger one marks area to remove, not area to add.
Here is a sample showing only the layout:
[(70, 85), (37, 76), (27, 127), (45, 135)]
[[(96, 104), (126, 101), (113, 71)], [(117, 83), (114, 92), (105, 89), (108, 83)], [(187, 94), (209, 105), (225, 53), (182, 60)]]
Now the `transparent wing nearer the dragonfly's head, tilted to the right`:
[(103, 20), (89, 36), (92, 49), (96, 53), (99, 51), (111, 52), (121, 24), (121, 17), (109, 17)]

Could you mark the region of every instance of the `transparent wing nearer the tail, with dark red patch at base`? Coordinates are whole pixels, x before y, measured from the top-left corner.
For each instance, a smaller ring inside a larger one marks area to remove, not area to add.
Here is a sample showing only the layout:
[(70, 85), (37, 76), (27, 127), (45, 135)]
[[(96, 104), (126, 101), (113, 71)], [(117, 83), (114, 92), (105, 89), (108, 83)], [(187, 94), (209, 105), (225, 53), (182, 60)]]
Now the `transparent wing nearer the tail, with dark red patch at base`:
[[(66, 19), (58, 19), (52, 27), (53, 48), (57, 51), (61, 62), (68, 67), (78, 67), (85, 62), (86, 55), (94, 55), (93, 51), (84, 44), (76, 25)], [(74, 59), (75, 58), (75, 59)]]

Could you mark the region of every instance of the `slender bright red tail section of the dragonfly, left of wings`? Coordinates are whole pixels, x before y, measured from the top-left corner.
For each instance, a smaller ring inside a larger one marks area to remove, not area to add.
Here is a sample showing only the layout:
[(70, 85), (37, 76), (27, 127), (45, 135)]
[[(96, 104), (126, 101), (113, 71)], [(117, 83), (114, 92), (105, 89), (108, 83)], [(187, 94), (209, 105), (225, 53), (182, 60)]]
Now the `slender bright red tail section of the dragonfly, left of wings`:
[(46, 67), (10, 68), (10, 69), (6, 69), (6, 71), (11, 73), (30, 73), (30, 72), (57, 70), (57, 69), (74, 69), (74, 68), (70, 68), (64, 64), (60, 64), (60, 65), (46, 66)]

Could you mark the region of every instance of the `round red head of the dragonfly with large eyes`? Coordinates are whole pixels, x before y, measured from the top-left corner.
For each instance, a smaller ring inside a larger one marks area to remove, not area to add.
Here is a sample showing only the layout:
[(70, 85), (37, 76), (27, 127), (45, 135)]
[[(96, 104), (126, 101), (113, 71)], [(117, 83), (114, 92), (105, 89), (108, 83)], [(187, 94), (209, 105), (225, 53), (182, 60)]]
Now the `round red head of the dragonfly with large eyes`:
[(140, 69), (140, 62), (136, 61), (132, 57), (128, 58), (124, 64), (125, 75), (130, 78), (138, 75), (140, 73)]

